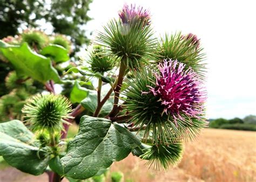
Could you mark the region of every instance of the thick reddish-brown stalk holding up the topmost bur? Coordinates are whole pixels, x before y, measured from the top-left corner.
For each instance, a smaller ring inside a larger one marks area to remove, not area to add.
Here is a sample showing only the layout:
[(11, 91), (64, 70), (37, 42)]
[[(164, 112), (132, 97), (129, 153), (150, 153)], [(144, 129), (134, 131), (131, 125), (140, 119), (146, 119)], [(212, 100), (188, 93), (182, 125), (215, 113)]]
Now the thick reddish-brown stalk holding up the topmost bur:
[(109, 114), (110, 117), (114, 117), (117, 115), (116, 109), (118, 108), (119, 95), (120, 95), (120, 90), (121, 90), (121, 87), (123, 84), (125, 71), (126, 71), (125, 61), (121, 60), (118, 79), (117, 79), (117, 86), (114, 89), (114, 105), (113, 105), (113, 109), (111, 110), (111, 112)]

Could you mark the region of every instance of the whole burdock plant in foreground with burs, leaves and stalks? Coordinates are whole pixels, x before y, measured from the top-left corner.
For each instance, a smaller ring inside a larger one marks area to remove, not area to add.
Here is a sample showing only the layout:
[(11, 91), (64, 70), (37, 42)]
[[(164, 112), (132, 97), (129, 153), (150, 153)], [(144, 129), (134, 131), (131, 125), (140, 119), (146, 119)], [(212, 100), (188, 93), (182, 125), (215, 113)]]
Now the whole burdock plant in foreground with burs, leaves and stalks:
[[(22, 109), (32, 132), (17, 120), (0, 124), (0, 155), (10, 165), (35, 175), (47, 172), (49, 181), (73, 181), (100, 176), (132, 153), (149, 166), (168, 169), (181, 160), (184, 141), (206, 127), (200, 39), (176, 33), (158, 40), (149, 11), (140, 6), (124, 5), (118, 15), (98, 32), (85, 62), (61, 76), (55, 68), (70, 48), (63, 39), (52, 42), (61, 47), (37, 53), (28, 47), (43, 47), (35, 34), (21, 46), (0, 41), (1, 56), (17, 75), (51, 92), (38, 93)], [(72, 105), (56, 94), (55, 82), (72, 87), (65, 92)], [(78, 133), (66, 140), (74, 119)]]

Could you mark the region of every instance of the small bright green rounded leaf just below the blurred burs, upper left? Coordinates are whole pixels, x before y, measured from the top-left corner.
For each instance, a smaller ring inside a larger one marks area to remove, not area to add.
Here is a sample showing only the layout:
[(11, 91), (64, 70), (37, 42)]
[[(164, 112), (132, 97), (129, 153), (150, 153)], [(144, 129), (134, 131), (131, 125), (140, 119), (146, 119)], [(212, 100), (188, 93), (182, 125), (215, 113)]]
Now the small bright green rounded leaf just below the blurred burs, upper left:
[(51, 57), (52, 60), (57, 63), (65, 62), (70, 59), (68, 50), (63, 46), (56, 44), (50, 44), (49, 46), (44, 47), (41, 54), (45, 57)]

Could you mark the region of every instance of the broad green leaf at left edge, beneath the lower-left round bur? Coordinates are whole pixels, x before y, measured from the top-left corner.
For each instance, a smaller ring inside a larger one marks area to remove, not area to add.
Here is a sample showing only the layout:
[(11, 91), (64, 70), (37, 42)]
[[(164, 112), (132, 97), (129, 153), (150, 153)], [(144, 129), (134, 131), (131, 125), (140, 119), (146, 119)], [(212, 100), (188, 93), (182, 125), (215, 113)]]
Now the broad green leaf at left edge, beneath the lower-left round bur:
[(33, 175), (42, 174), (50, 155), (32, 143), (33, 134), (18, 120), (0, 124), (0, 155), (18, 170)]

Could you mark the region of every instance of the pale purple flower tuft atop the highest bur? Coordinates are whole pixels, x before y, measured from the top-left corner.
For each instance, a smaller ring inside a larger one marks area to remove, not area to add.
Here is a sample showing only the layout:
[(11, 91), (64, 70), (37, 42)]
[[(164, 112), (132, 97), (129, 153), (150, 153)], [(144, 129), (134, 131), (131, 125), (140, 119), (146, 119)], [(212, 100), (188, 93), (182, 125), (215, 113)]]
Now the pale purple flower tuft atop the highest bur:
[(120, 19), (124, 24), (136, 24), (139, 21), (142, 21), (144, 25), (150, 24), (150, 14), (149, 11), (135, 5), (125, 4), (123, 9), (118, 13)]

